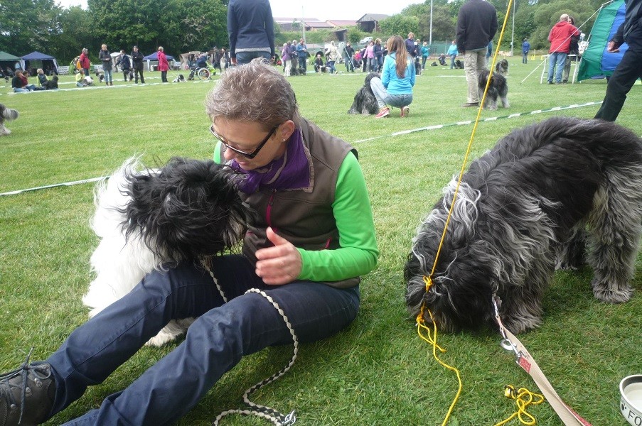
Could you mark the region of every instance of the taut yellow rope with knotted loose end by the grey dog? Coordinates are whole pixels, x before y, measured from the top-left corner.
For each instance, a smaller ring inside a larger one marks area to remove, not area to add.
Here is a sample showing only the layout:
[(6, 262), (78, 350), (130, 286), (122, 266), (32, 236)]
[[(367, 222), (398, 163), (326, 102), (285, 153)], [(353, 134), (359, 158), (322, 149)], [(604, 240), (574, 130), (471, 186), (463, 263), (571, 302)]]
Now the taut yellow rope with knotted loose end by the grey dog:
[[(486, 93), (488, 93), (488, 87), (491, 84), (491, 77), (493, 76), (493, 70), (495, 68), (495, 62), (497, 61), (497, 55), (499, 53), (499, 48), (501, 46), (501, 40), (503, 39), (504, 31), (506, 28), (506, 23), (508, 23), (508, 16), (510, 15), (510, 7), (513, 5), (513, 0), (508, 1), (508, 8), (506, 11), (506, 14), (504, 16), (504, 22), (501, 27), (501, 33), (499, 34), (499, 40), (497, 43), (497, 47), (495, 49), (495, 54), (493, 55), (493, 62), (491, 64), (491, 69), (490, 73), (488, 74), (488, 81), (486, 82), (486, 87), (483, 89), (483, 96), (481, 97), (481, 102), (479, 102), (479, 108), (477, 109), (477, 116), (475, 118), (475, 124), (473, 126), (473, 131), (471, 133), (471, 138), (469, 139), (468, 146), (466, 147), (466, 154), (464, 155), (464, 163), (461, 165), (461, 170), (459, 170), (459, 178), (457, 179), (457, 185), (455, 187), (455, 191), (453, 194), (453, 199), (450, 204), (450, 209), (448, 210), (448, 216), (446, 217), (446, 223), (444, 224), (444, 231), (442, 232), (442, 239), (439, 240), (439, 247), (437, 248), (437, 253), (434, 256), (434, 263), (432, 264), (432, 270), (430, 271), (430, 275), (426, 276), (424, 275), (424, 283), (426, 284), (426, 293), (429, 292), (430, 288), (432, 287), (432, 277), (434, 275), (434, 271), (437, 268), (437, 261), (439, 260), (439, 253), (442, 252), (442, 246), (444, 245), (444, 239), (446, 239), (446, 231), (448, 230), (448, 224), (450, 222), (450, 217), (452, 215), (455, 202), (457, 200), (457, 194), (459, 193), (459, 186), (461, 185), (461, 179), (464, 176), (464, 171), (466, 170), (466, 163), (468, 163), (468, 158), (471, 152), (471, 147), (473, 146), (473, 141), (475, 137), (475, 133), (477, 131), (477, 126), (479, 124), (479, 119), (481, 117), (481, 110), (483, 109), (483, 102), (486, 101)], [(432, 322), (432, 334), (431, 330), (426, 327), (425, 325), (425, 320), (424, 320), (424, 313), (428, 312), (428, 315), (430, 316), (430, 320)], [(424, 332), (426, 335), (422, 334)], [(461, 389), (462, 389), (462, 383), (461, 383), (461, 375), (459, 374), (459, 370), (455, 367), (449, 366), (446, 364), (444, 361), (439, 359), (439, 356), (437, 356), (437, 349), (441, 351), (442, 353), (445, 352), (446, 350), (443, 349), (439, 344), (437, 344), (437, 324), (434, 322), (434, 318), (432, 316), (432, 312), (430, 312), (429, 309), (426, 307), (426, 303), (424, 302), (422, 304), (422, 308), (419, 311), (419, 315), (417, 315), (417, 334), (419, 334), (419, 337), (424, 339), (426, 342), (429, 344), (432, 344), (432, 356), (434, 356), (434, 359), (439, 362), (444, 368), (448, 368), (451, 371), (454, 371), (457, 375), (457, 381), (459, 382), (459, 388), (457, 389), (457, 393), (455, 395), (455, 398), (453, 402), (451, 403), (448, 413), (446, 413), (446, 417), (444, 417), (444, 422), (442, 422), (442, 426), (445, 426), (446, 423), (448, 422), (450, 415), (452, 413), (452, 410), (454, 409), (457, 401), (459, 400), (459, 395), (461, 395)], [(543, 397), (542, 397), (543, 400)], [(530, 416), (528, 413), (526, 415)], [(512, 417), (510, 417), (512, 418)], [(510, 418), (508, 420), (510, 420)], [(521, 420), (521, 415), (520, 415), (520, 420)], [(533, 418), (533, 420), (535, 420)]]

